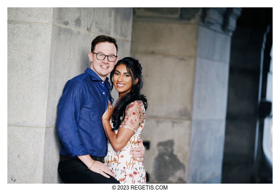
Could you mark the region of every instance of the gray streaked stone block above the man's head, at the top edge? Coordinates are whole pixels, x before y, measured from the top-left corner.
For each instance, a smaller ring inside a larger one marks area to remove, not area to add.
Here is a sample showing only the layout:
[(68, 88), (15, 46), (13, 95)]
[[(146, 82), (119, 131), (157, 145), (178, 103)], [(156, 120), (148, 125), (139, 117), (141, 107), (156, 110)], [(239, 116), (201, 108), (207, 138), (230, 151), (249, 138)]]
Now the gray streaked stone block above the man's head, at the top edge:
[(132, 8), (54, 8), (53, 22), (130, 41)]

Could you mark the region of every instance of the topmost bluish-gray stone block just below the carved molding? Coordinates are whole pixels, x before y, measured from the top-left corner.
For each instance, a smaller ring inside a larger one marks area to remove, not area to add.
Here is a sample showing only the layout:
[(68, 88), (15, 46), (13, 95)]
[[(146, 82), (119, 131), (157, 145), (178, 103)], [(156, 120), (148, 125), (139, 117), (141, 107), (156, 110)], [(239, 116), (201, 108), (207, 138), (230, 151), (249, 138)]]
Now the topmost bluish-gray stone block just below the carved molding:
[(230, 36), (199, 26), (197, 57), (229, 63), (230, 43)]

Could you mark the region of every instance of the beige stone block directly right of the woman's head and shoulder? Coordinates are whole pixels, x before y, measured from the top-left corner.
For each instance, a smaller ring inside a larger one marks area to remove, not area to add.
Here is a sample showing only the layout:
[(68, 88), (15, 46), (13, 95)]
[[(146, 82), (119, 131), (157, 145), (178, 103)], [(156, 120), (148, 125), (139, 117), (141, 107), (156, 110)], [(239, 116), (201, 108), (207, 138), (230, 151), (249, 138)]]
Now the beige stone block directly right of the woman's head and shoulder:
[(194, 58), (132, 54), (143, 68), (148, 116), (191, 119)]

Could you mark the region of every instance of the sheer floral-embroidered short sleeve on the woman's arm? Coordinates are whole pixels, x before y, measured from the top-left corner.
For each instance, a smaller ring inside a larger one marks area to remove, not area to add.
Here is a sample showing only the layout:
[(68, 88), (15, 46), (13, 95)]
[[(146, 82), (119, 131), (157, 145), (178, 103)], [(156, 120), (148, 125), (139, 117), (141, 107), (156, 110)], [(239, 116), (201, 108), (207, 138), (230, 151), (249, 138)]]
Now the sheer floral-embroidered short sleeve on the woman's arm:
[(145, 113), (140, 102), (133, 102), (126, 108), (125, 119), (121, 123), (121, 127), (133, 130), (134, 132), (140, 127), (145, 118)]

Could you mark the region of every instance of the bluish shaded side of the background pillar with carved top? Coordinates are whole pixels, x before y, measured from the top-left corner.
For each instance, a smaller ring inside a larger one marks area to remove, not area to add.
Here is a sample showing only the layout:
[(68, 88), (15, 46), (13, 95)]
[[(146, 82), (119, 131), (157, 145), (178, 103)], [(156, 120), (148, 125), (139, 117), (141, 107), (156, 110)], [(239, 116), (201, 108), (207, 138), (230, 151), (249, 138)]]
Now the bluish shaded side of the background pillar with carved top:
[(188, 183), (221, 183), (231, 35), (239, 8), (203, 9), (198, 29)]

